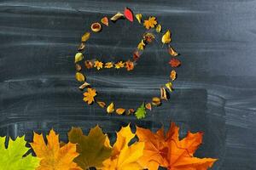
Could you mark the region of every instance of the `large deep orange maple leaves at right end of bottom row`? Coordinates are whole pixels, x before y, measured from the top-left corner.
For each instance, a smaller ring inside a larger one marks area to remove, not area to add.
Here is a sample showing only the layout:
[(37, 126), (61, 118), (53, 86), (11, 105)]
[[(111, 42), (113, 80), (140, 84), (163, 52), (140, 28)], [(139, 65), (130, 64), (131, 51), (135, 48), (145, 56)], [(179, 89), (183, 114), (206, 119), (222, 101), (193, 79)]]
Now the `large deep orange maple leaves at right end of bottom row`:
[(160, 128), (156, 133), (137, 127), (137, 137), (145, 143), (143, 156), (139, 162), (149, 170), (159, 166), (169, 170), (205, 170), (212, 167), (216, 159), (197, 158), (193, 154), (202, 142), (202, 133), (188, 133), (182, 140), (178, 139), (179, 128), (171, 124), (168, 132)]

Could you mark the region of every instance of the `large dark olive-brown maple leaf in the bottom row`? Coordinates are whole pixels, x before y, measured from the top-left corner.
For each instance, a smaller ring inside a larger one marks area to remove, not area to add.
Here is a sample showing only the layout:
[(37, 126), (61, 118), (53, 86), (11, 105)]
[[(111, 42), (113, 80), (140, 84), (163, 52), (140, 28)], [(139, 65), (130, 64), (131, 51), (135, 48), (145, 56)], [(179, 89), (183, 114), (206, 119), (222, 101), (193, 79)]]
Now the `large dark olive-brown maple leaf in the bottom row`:
[(83, 169), (90, 167), (98, 169), (102, 167), (102, 161), (111, 155), (112, 148), (108, 136), (102, 133), (99, 126), (91, 128), (88, 136), (85, 136), (79, 127), (72, 127), (67, 135), (71, 143), (78, 144), (77, 152), (80, 155), (74, 159), (74, 162)]

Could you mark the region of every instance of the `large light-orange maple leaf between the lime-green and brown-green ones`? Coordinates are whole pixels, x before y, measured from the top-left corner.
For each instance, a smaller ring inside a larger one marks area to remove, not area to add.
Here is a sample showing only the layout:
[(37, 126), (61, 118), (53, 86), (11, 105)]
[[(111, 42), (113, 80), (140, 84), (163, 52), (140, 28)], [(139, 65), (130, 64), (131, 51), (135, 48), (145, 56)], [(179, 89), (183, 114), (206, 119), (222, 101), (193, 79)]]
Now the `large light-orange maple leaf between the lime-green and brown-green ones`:
[(59, 135), (53, 129), (46, 135), (47, 144), (44, 142), (43, 134), (34, 133), (32, 149), (41, 159), (40, 166), (37, 170), (81, 170), (81, 168), (73, 162), (73, 159), (79, 156), (76, 152), (76, 144), (59, 142)]

